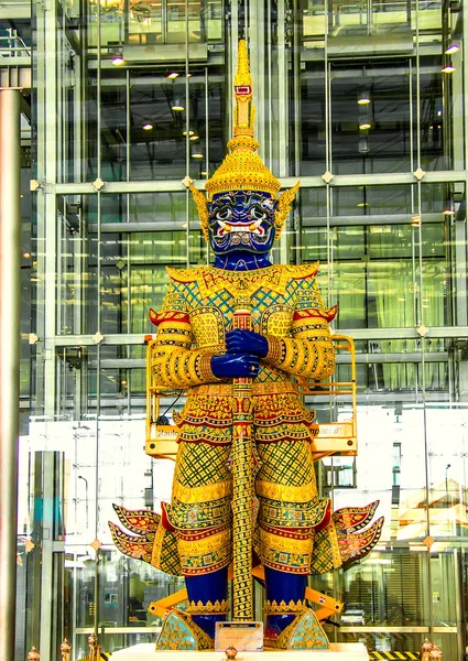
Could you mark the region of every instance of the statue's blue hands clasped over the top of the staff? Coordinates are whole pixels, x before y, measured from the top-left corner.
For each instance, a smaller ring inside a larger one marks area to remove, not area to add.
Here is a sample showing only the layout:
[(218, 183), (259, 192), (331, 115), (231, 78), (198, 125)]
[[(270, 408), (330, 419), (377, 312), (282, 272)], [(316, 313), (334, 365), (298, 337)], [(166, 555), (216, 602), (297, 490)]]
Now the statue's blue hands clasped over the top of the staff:
[(260, 358), (268, 354), (268, 339), (253, 330), (229, 330), (226, 334), (226, 356), (211, 358), (211, 370), (218, 379), (239, 379), (259, 373)]

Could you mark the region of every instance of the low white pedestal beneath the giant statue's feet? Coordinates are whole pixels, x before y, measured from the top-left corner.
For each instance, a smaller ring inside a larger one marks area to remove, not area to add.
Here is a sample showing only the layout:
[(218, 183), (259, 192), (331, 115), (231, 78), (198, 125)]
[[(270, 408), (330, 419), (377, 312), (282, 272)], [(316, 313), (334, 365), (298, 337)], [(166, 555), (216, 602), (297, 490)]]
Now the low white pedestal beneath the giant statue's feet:
[[(224, 652), (173, 652), (155, 651), (153, 642), (142, 642), (124, 650), (112, 652), (116, 661), (195, 661), (195, 657), (206, 661), (221, 661)], [(360, 642), (330, 642), (326, 651), (268, 651), (268, 652), (238, 652), (237, 661), (302, 661), (314, 658), (314, 661), (369, 661), (366, 647)], [(333, 657), (333, 659), (331, 659)]]

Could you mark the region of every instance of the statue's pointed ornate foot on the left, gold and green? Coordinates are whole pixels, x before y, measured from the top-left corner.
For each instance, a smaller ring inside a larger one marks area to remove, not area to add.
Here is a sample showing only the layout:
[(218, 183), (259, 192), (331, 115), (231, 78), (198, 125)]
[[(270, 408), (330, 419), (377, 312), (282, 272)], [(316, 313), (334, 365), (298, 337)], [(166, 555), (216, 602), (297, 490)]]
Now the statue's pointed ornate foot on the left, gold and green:
[(213, 650), (215, 642), (192, 617), (173, 608), (164, 618), (156, 650)]

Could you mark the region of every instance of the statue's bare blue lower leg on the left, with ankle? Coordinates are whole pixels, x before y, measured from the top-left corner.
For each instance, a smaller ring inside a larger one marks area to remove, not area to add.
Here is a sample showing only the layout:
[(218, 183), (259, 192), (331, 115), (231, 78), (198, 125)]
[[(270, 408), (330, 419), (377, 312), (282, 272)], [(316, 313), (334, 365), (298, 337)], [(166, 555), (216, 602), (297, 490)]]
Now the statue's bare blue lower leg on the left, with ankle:
[[(185, 585), (187, 587), (188, 600), (202, 602), (206, 604), (216, 600), (222, 602), (227, 598), (228, 592), (228, 567), (211, 572), (210, 574), (200, 574), (198, 576), (186, 576)], [(192, 619), (210, 638), (215, 638), (216, 622), (225, 621), (226, 615), (193, 615)]]

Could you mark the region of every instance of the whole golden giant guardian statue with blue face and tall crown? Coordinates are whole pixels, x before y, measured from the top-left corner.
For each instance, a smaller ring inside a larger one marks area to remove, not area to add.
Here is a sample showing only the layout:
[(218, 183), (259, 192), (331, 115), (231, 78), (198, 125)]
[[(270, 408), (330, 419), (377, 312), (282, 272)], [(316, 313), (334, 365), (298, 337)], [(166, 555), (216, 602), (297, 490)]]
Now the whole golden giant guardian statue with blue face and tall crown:
[(305, 602), (307, 576), (363, 556), (382, 520), (366, 528), (377, 503), (333, 512), (317, 494), (311, 444), (318, 425), (297, 383), (333, 373), (336, 308), (323, 304), (318, 264), (270, 262), (298, 184), (279, 195), (280, 182), (257, 153), (244, 41), (235, 95), (230, 153), (206, 182), (208, 197), (185, 182), (215, 263), (168, 269), (163, 306), (150, 313), (157, 327), (151, 383), (187, 391), (175, 420), (172, 501), (161, 516), (116, 506), (139, 537), (111, 529), (128, 555), (185, 577), (188, 608), (170, 613), (160, 649), (213, 647), (215, 625), (229, 611), (230, 565), (233, 618), (252, 620), (259, 563), (269, 644), (324, 649), (327, 638)]

